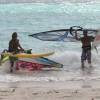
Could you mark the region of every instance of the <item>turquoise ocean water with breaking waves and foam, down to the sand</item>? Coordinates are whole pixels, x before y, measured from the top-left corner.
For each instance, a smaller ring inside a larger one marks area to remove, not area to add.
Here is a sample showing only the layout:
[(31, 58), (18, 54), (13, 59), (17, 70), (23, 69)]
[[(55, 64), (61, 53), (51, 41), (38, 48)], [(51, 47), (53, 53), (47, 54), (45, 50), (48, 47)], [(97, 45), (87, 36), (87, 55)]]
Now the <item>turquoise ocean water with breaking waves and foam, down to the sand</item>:
[[(100, 53), (97, 54), (95, 50), (92, 50), (93, 67), (87, 67), (83, 71), (80, 66), (80, 42), (47, 42), (28, 37), (29, 34), (71, 26), (100, 28), (98, 1), (78, 3), (74, 0), (62, 3), (58, 1), (0, 4), (0, 51), (8, 48), (12, 33), (17, 32), (23, 48), (32, 48), (34, 53), (55, 51), (55, 54), (48, 58), (64, 64), (64, 68), (59, 70), (15, 72), (14, 74), (6, 71), (9, 65), (2, 65), (0, 81), (51, 82), (100, 79)], [(98, 51), (100, 51), (99, 47)]]

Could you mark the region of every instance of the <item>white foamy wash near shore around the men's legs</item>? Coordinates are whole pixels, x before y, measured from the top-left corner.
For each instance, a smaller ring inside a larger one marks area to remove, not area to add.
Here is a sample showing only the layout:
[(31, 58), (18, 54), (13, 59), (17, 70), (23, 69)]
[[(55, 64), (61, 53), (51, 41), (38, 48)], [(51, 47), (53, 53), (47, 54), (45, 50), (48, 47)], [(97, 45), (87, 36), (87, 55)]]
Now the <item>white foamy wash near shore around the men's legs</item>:
[[(81, 52), (66, 51), (63, 53), (56, 53), (49, 57), (54, 61), (64, 64), (64, 67), (59, 70), (42, 70), (42, 71), (15, 71), (13, 74), (9, 73), (9, 62), (5, 63), (0, 70), (1, 82), (18, 82), (18, 81), (45, 81), (45, 82), (64, 82), (64, 81), (85, 81), (99, 80), (99, 60), (100, 54), (93, 51), (93, 68), (87, 67), (85, 70), (80, 66)], [(98, 56), (98, 57), (97, 57)]]

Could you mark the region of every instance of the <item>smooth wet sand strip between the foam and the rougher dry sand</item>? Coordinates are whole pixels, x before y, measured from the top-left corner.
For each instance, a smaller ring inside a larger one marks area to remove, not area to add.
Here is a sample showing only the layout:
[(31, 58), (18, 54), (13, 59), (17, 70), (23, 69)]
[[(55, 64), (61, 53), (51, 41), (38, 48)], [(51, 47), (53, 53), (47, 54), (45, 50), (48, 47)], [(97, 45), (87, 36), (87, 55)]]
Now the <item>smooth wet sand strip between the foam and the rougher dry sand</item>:
[(40, 87), (40, 88), (58, 88), (58, 89), (82, 89), (82, 88), (100, 88), (100, 80), (78, 80), (78, 81), (9, 81), (0, 82), (0, 87)]

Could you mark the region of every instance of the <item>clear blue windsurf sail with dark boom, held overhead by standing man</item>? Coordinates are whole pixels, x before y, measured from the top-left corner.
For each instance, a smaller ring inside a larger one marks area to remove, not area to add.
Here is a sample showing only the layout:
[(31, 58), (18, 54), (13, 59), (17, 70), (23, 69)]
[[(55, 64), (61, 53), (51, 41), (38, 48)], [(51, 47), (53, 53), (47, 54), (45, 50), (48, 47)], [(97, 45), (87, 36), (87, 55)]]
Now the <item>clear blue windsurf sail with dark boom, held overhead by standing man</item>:
[(83, 29), (80, 26), (72, 26), (69, 29), (50, 30), (31, 34), (29, 36), (40, 39), (42, 41), (76, 41), (75, 34), (83, 35), (83, 31), (87, 30), (89, 35), (95, 36), (97, 30)]

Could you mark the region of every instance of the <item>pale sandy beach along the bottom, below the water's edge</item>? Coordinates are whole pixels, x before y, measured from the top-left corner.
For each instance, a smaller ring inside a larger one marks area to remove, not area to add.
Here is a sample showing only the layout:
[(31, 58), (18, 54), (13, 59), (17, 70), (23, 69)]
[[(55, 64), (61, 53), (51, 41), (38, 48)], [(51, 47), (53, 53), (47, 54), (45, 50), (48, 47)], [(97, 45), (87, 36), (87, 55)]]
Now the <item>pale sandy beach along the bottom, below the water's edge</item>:
[(100, 100), (100, 81), (0, 83), (0, 100)]

